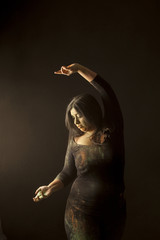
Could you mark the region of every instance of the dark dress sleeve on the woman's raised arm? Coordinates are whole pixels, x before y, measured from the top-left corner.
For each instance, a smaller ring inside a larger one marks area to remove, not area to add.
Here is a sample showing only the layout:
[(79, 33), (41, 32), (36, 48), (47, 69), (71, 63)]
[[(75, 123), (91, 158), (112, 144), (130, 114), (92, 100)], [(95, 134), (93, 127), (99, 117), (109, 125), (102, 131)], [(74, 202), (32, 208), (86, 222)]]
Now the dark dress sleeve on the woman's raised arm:
[(109, 83), (99, 75), (97, 75), (90, 83), (99, 92), (103, 102), (104, 126), (111, 124), (114, 129), (123, 131), (123, 117), (120, 105)]

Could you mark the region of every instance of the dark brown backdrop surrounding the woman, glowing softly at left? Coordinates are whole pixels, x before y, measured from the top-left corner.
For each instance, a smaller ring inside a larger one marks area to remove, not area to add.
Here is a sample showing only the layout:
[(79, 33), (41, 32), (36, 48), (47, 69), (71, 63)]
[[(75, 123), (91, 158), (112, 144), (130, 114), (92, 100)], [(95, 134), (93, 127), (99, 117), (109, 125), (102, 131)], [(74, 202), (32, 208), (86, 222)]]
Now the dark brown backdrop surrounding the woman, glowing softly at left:
[(87, 66), (119, 99), (125, 124), (124, 240), (159, 239), (159, 1), (5, 1), (0, 8), (0, 217), (9, 240), (66, 239), (69, 187), (38, 204), (34, 191), (62, 169), (65, 109)]

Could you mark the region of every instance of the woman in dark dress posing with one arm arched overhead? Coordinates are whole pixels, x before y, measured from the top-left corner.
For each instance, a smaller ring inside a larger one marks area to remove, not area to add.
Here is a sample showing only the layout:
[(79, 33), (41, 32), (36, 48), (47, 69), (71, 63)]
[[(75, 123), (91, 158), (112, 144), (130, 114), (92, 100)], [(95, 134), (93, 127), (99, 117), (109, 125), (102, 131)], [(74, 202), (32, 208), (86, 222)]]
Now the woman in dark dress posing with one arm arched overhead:
[(120, 240), (126, 216), (124, 200), (124, 137), (119, 103), (110, 85), (97, 73), (75, 63), (55, 74), (79, 73), (100, 94), (73, 98), (66, 110), (69, 141), (63, 170), (48, 186), (39, 187), (35, 202), (73, 182), (65, 211), (70, 240)]

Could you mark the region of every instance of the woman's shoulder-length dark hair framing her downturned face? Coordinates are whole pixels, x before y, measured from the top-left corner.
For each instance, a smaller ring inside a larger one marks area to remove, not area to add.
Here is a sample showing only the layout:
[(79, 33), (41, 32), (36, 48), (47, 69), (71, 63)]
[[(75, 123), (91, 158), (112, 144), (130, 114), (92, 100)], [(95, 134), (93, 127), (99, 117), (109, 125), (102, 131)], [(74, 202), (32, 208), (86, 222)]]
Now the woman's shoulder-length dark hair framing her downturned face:
[(98, 101), (90, 94), (80, 94), (71, 100), (66, 109), (65, 125), (69, 130), (69, 139), (70, 137), (78, 137), (84, 134), (74, 124), (70, 113), (72, 108), (75, 108), (75, 110), (83, 116), (84, 121), (88, 126), (92, 125), (95, 127), (96, 131), (94, 135), (100, 131), (103, 118), (102, 110)]

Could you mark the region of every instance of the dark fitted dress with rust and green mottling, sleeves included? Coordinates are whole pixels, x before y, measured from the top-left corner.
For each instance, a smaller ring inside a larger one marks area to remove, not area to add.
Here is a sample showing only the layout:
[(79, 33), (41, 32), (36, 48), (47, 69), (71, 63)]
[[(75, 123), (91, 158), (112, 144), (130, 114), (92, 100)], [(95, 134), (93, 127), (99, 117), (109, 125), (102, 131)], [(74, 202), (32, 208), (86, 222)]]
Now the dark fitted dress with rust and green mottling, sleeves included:
[[(102, 143), (68, 143), (63, 170), (56, 177), (64, 185), (73, 182), (65, 211), (70, 240), (119, 240), (123, 234), (126, 204), (124, 192), (123, 118), (110, 85), (99, 75), (91, 82), (104, 107)], [(108, 131), (108, 124), (110, 131)]]

